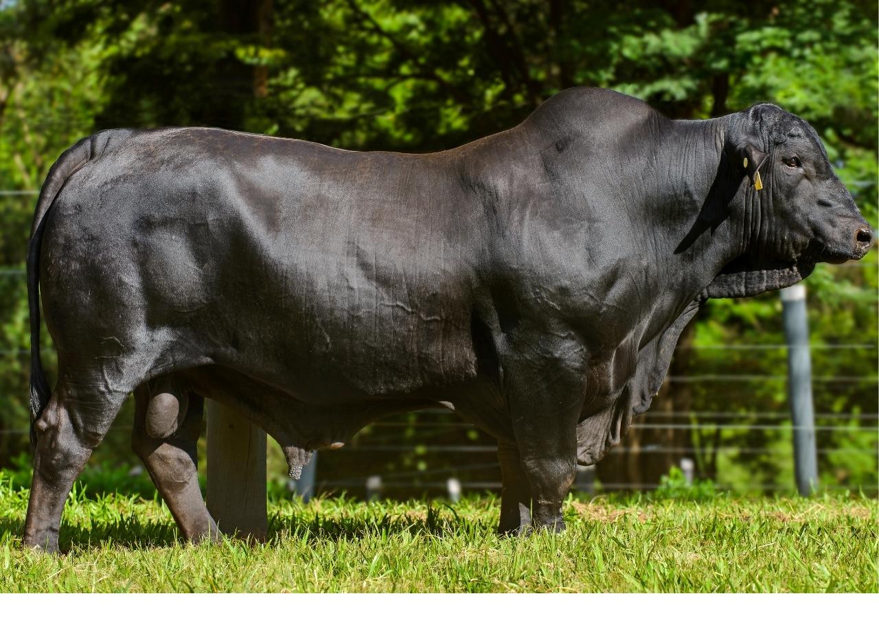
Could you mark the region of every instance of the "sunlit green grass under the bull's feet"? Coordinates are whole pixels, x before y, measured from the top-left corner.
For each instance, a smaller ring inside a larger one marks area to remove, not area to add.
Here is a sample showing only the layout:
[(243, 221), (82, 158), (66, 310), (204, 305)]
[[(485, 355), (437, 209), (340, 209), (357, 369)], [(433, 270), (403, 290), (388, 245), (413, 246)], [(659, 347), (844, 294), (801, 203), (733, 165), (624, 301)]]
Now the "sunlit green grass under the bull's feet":
[(62, 555), (20, 548), (0, 483), (0, 592), (877, 592), (862, 497), (570, 499), (560, 535), (502, 539), (498, 501), (273, 500), (265, 544), (178, 542), (160, 501), (71, 494)]

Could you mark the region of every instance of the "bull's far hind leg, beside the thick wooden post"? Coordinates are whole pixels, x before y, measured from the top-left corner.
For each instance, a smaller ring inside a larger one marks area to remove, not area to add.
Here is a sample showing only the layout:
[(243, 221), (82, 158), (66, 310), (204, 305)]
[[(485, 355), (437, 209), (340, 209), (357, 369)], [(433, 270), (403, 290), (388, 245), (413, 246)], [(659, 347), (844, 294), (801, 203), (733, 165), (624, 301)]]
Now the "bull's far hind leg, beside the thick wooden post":
[(219, 538), (207, 513), (198, 477), (197, 442), (204, 416), (204, 399), (154, 381), (134, 390), (132, 447), (171, 510), (180, 532), (189, 541)]

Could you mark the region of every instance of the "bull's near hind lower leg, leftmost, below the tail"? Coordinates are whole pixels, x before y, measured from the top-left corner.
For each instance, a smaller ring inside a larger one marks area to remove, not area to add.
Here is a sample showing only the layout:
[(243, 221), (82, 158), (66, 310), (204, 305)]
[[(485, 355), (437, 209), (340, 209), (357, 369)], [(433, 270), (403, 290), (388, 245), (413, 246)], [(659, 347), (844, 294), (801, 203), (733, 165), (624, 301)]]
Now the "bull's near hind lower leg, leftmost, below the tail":
[(58, 532), (70, 488), (91, 451), (104, 439), (125, 396), (127, 393), (91, 396), (65, 384), (55, 389), (34, 424), (37, 446), (25, 519), (25, 547), (58, 550)]

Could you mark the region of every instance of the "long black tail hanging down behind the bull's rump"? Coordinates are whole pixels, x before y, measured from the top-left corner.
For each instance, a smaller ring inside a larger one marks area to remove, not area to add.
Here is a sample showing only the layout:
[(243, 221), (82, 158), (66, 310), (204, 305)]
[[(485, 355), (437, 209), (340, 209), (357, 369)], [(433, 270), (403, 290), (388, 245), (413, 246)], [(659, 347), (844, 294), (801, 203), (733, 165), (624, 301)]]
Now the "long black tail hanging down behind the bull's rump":
[(76, 142), (65, 150), (52, 165), (40, 189), (37, 209), (33, 214), (31, 239), (27, 244), (27, 306), (31, 314), (31, 442), (36, 444), (33, 426), (48, 403), (52, 389), (40, 360), (40, 244), (49, 208), (68, 178), (105, 151), (110, 142), (126, 139), (130, 131), (102, 131)]

